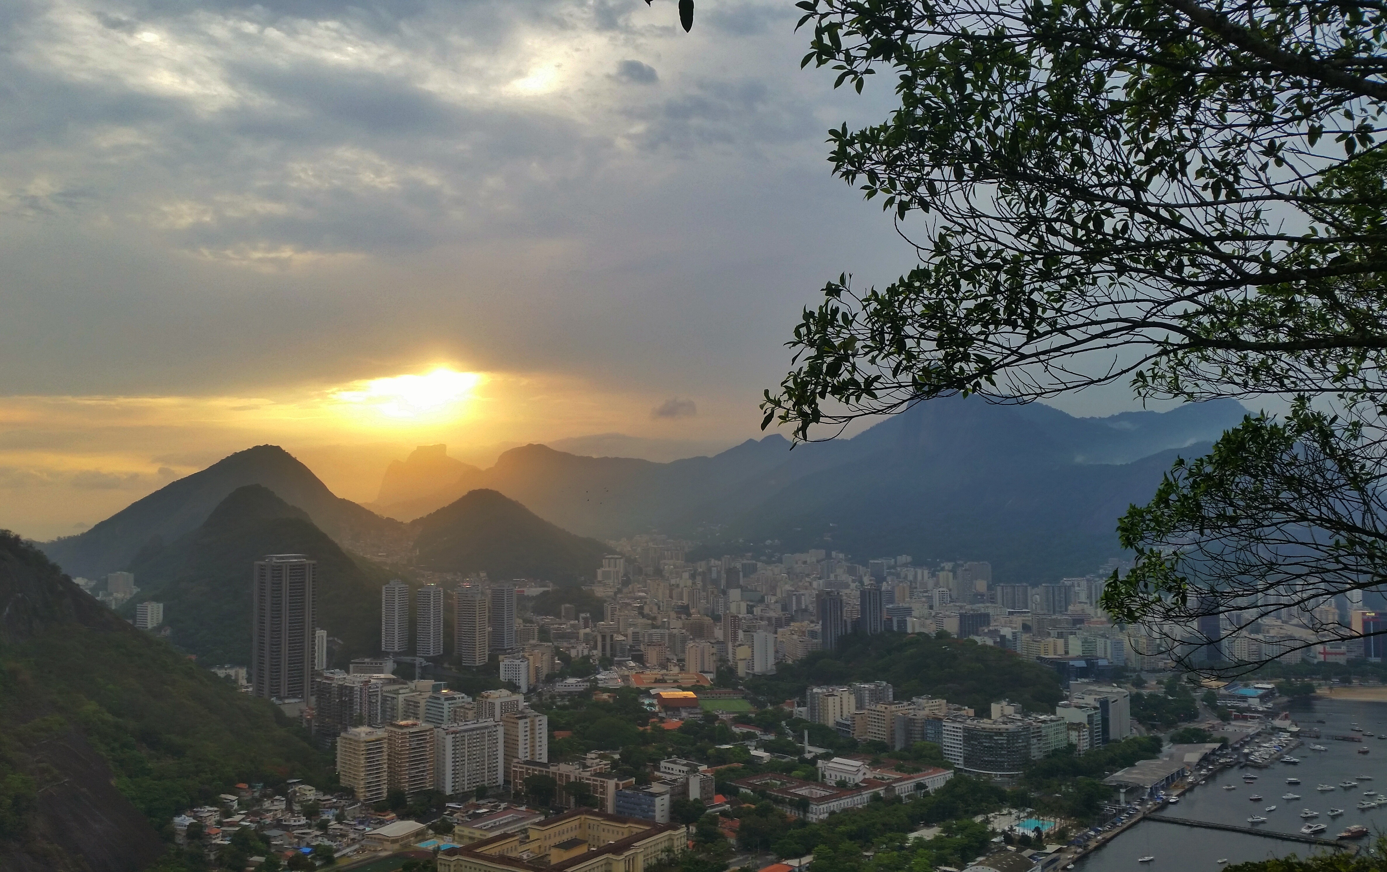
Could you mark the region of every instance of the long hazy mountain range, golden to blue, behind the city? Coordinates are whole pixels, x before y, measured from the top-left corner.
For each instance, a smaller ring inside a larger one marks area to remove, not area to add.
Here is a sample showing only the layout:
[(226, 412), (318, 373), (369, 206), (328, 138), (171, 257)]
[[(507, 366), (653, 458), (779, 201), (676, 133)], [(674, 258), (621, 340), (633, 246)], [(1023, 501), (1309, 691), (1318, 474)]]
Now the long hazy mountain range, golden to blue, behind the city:
[(990, 560), (999, 581), (1086, 573), (1179, 451), (1201, 453), (1246, 415), (1234, 401), (1072, 417), (1039, 403), (946, 398), (849, 439), (770, 435), (712, 457), (653, 463), (524, 445), (440, 491), (383, 509), (417, 517), (488, 488), (580, 535), (666, 532), (707, 553), (827, 548), (859, 560)]

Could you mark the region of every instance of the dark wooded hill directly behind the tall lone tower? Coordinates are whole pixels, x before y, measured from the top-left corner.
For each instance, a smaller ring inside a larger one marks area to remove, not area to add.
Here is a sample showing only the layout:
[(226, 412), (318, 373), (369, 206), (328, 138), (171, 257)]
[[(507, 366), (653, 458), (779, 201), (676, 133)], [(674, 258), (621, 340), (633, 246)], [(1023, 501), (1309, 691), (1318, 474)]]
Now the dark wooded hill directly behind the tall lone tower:
[[(196, 530), (147, 548), (130, 570), (139, 599), (164, 603), (171, 642), (205, 664), (245, 663), (251, 564), (265, 555), (318, 561), (318, 622), (338, 640), (330, 646), (333, 663), (379, 650), (380, 586), (390, 573), (344, 552), (308, 512), (258, 484), (232, 491)], [(125, 606), (133, 610), (133, 602)]]

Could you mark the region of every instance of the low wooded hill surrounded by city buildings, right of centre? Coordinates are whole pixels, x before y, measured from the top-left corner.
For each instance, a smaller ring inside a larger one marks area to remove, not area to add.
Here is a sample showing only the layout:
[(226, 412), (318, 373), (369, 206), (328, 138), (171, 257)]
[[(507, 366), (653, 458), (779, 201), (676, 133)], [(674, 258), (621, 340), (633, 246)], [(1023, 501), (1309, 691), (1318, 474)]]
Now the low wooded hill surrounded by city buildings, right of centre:
[(795, 663), (777, 664), (774, 675), (750, 678), (748, 689), (767, 703), (804, 699), (813, 685), (885, 681), (896, 699), (929, 695), (986, 713), (997, 700), (1028, 711), (1054, 713), (1064, 699), (1054, 670), (1015, 653), (970, 639), (936, 639), (915, 634), (853, 634), (835, 652), (813, 652)]

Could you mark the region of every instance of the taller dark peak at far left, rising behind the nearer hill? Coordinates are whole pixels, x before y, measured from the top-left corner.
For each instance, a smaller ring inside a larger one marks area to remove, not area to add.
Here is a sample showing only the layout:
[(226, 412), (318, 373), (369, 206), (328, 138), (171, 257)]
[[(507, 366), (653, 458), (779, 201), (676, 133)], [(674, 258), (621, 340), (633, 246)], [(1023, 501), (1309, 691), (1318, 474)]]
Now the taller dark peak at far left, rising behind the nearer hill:
[(227, 494), (248, 484), (265, 485), (300, 506), (338, 542), (369, 541), (399, 530), (398, 521), (334, 496), (283, 448), (257, 445), (130, 503), (92, 530), (47, 542), (43, 550), (72, 575), (96, 578), (125, 570), (141, 549), (196, 530)]

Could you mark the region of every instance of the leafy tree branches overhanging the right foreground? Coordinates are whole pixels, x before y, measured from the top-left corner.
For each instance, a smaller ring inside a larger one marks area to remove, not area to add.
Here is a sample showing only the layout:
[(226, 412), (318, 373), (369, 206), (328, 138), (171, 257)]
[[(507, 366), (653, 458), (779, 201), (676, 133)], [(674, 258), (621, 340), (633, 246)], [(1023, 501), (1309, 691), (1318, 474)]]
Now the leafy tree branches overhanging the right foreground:
[[(1137, 564), (1104, 606), (1237, 631), (1373, 586), (1387, 568), (1384, 10), (799, 7), (804, 64), (857, 90), (895, 75), (889, 118), (831, 132), (831, 161), (918, 265), (882, 288), (825, 286), (763, 426), (811, 439), (951, 394), (1024, 402), (1122, 380), (1143, 399), (1276, 395), (1289, 415), (1250, 416), (1123, 517)], [(1214, 635), (1176, 656), (1225, 660)]]

